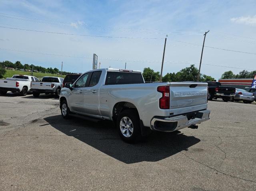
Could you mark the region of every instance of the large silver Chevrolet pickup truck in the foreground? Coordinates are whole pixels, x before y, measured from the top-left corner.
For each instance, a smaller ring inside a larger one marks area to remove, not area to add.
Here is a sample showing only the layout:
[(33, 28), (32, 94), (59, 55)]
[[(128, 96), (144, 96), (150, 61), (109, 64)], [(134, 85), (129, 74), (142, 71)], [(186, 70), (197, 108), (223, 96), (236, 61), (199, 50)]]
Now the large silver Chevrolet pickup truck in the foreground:
[(145, 83), (140, 71), (97, 69), (60, 92), (64, 118), (112, 120), (121, 138), (136, 142), (151, 131), (173, 132), (209, 120), (207, 83)]

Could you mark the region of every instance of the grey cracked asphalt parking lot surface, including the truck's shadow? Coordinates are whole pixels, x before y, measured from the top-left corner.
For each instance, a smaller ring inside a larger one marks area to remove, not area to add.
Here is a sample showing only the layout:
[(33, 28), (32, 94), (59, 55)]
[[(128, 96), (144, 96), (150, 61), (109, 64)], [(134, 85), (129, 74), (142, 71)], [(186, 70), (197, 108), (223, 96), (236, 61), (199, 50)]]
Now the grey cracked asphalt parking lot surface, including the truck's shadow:
[(255, 104), (208, 102), (199, 128), (126, 144), (51, 95), (0, 96), (0, 190), (256, 190)]

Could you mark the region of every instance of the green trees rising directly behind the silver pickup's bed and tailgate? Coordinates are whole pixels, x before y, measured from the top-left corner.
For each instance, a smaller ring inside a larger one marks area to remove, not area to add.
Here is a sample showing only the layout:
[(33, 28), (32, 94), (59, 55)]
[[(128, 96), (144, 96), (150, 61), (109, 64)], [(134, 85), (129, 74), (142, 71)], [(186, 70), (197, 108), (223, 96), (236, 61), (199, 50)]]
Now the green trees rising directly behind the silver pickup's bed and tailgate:
[[(142, 73), (146, 82), (156, 82), (160, 80), (160, 72), (155, 72), (150, 67), (144, 68)], [(163, 82), (178, 82), (178, 81), (197, 81), (198, 69), (195, 65), (190, 65), (177, 73), (167, 73), (162, 77)], [(199, 81), (214, 81), (214, 78), (205, 74), (200, 74)]]

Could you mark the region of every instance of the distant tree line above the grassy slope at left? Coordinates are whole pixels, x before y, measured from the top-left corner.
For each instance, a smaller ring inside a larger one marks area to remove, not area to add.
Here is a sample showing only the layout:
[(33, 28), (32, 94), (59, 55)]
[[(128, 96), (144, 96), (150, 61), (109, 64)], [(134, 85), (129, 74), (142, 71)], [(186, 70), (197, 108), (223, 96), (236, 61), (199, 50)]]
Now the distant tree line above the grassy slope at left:
[[(11, 67), (11, 68), (18, 69), (18, 70), (24, 69), (24, 71), (25, 71), (25, 70), (32, 70), (33, 65), (32, 64), (31, 65), (28, 65), (28, 64), (23, 65), (20, 61), (16, 61), (15, 63), (12, 63), (10, 61), (3, 61), (3, 62), (0, 62), (0, 75), (1, 75), (1, 72), (4, 71), (4, 67)], [(50, 73), (50, 74), (57, 74), (57, 73), (61, 72), (61, 71), (59, 71), (58, 68), (52, 68), (52, 67), (45, 68), (45, 67), (36, 66), (36, 65), (34, 65), (33, 71), (38, 71), (41, 73)], [(67, 74), (70, 74), (70, 72), (62, 71), (62, 74), (67, 75)]]

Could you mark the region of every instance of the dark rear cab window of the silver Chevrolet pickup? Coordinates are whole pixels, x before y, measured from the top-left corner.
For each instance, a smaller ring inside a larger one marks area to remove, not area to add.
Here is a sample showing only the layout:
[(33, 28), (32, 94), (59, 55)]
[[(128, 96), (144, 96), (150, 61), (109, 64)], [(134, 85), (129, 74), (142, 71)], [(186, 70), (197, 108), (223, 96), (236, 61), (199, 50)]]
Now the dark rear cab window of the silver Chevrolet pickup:
[(144, 83), (141, 73), (108, 71), (105, 85), (141, 84)]

